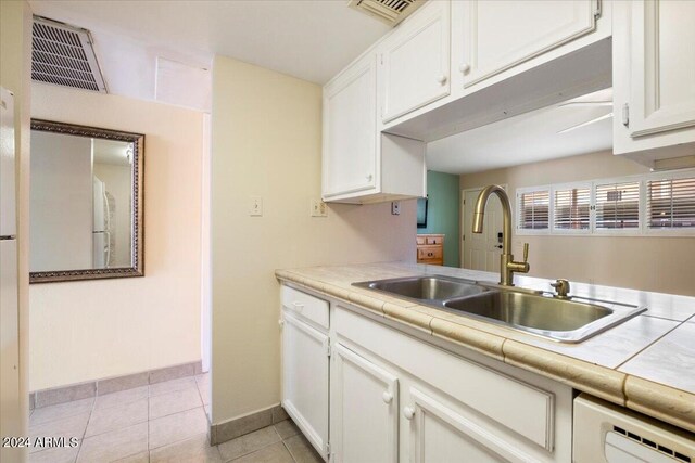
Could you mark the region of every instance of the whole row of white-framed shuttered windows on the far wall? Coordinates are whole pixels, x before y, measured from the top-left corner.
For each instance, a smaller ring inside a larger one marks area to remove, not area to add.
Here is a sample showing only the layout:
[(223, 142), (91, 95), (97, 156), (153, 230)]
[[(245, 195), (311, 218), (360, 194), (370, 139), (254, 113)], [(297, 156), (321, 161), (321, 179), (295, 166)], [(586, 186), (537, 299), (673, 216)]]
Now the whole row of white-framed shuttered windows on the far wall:
[(517, 189), (518, 234), (695, 236), (695, 169)]

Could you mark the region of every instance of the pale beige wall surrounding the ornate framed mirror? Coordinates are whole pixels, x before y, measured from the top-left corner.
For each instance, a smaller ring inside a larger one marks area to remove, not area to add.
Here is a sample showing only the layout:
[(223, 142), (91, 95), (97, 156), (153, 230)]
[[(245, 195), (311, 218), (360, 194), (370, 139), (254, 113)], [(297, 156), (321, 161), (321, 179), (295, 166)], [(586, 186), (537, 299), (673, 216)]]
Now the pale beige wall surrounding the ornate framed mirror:
[(31, 285), (31, 390), (199, 360), (202, 113), (31, 90), (34, 117), (146, 136), (146, 276)]

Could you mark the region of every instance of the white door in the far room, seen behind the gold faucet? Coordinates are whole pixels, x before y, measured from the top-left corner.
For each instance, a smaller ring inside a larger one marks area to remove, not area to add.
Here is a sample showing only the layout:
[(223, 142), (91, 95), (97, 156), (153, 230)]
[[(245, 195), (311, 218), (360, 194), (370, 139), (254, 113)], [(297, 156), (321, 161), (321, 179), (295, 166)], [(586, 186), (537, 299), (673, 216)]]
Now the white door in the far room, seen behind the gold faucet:
[[(505, 190), (506, 185), (502, 185)], [(462, 190), (462, 267), (470, 270), (496, 272), (502, 255), (503, 214), (497, 195), (488, 198), (483, 232), (472, 233), (473, 209), (481, 188)]]

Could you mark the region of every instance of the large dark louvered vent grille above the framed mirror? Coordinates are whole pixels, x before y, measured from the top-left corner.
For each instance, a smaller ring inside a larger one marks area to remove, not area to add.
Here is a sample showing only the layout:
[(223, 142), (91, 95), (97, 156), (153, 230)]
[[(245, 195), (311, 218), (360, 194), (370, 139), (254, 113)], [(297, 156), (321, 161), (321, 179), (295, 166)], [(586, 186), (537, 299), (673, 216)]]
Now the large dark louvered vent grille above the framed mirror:
[(31, 80), (106, 93), (91, 34), (34, 16)]

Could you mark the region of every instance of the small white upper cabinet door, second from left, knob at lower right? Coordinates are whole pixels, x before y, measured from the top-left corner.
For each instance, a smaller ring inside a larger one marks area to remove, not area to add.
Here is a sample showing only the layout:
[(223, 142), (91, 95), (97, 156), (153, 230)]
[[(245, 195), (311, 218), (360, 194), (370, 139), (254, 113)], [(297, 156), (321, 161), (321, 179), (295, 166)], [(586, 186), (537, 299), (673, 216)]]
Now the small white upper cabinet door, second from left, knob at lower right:
[(429, 2), (380, 49), (382, 120), (450, 93), (450, 2)]

